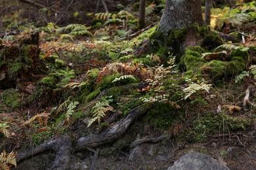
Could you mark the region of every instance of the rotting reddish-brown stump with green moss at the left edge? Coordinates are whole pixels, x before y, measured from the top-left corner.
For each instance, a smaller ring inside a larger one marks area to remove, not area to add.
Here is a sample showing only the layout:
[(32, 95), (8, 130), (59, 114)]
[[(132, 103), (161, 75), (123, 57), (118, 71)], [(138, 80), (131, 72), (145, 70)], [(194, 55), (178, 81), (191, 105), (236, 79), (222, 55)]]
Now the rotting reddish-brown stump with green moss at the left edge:
[(24, 35), (16, 41), (1, 41), (0, 88), (14, 88), (18, 80), (29, 80), (36, 73), (39, 34)]

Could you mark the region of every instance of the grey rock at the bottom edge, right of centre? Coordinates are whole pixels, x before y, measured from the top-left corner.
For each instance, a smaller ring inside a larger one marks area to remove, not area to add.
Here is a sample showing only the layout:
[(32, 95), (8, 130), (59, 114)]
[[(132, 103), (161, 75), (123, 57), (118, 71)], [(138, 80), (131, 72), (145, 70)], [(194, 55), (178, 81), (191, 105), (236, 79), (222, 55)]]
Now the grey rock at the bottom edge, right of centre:
[(169, 167), (168, 170), (207, 170), (207, 169), (215, 169), (215, 170), (224, 170), (229, 169), (217, 160), (210, 158), (206, 154), (200, 154), (198, 152), (190, 151), (184, 156), (181, 156), (179, 160), (175, 161), (173, 166)]

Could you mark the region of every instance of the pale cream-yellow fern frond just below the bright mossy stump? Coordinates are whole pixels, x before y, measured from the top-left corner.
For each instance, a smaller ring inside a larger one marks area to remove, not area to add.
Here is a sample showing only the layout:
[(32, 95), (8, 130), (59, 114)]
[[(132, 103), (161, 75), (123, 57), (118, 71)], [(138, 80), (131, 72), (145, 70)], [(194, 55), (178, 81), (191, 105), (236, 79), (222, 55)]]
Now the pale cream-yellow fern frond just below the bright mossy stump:
[(186, 94), (183, 99), (187, 99), (193, 93), (196, 93), (201, 90), (205, 90), (207, 93), (209, 93), (211, 86), (212, 86), (212, 84), (205, 84), (204, 81), (201, 82), (200, 84), (191, 83), (188, 85), (187, 88), (183, 89), (183, 92)]

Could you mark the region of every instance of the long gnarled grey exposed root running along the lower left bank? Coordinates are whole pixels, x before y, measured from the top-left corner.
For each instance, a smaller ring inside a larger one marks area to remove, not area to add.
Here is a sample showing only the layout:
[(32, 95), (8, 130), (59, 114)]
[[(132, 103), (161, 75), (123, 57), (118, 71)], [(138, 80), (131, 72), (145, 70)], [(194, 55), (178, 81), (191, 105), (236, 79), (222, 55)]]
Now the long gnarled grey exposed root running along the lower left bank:
[[(120, 120), (119, 122), (117, 122), (116, 125), (110, 127), (110, 129), (102, 132), (101, 134), (87, 135), (86, 137), (79, 138), (77, 144), (74, 147), (72, 147), (72, 141), (70, 137), (68, 137), (68, 135), (64, 135), (62, 137), (54, 139), (53, 141), (41, 144), (28, 152), (18, 153), (16, 156), (16, 161), (18, 162), (24, 160), (25, 158), (29, 158), (47, 150), (54, 150), (54, 152), (56, 152), (56, 158), (54, 160), (52, 169), (68, 169), (68, 163), (70, 161), (70, 154), (72, 149), (81, 150), (83, 148), (89, 148), (89, 150), (94, 150), (93, 148), (114, 141), (120, 135), (125, 133), (125, 131), (136, 118), (145, 114), (149, 109), (150, 104), (146, 103), (131, 110), (126, 118), (123, 118), (123, 120)], [(156, 141), (161, 139), (152, 140)], [(140, 141), (140, 143), (141, 142), (144, 141)], [(97, 148), (95, 151), (95, 156), (92, 160), (91, 169), (94, 167), (94, 161), (98, 158), (98, 152), (99, 148)]]

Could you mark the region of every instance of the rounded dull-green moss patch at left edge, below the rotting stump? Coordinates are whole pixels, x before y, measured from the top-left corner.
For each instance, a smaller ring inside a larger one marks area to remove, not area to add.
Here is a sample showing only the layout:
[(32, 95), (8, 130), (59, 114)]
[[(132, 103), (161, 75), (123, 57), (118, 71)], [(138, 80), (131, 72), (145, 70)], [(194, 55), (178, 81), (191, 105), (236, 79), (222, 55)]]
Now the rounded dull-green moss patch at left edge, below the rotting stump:
[(3, 103), (8, 107), (11, 107), (11, 109), (18, 109), (21, 105), (19, 93), (13, 88), (5, 90), (2, 94), (2, 97)]

